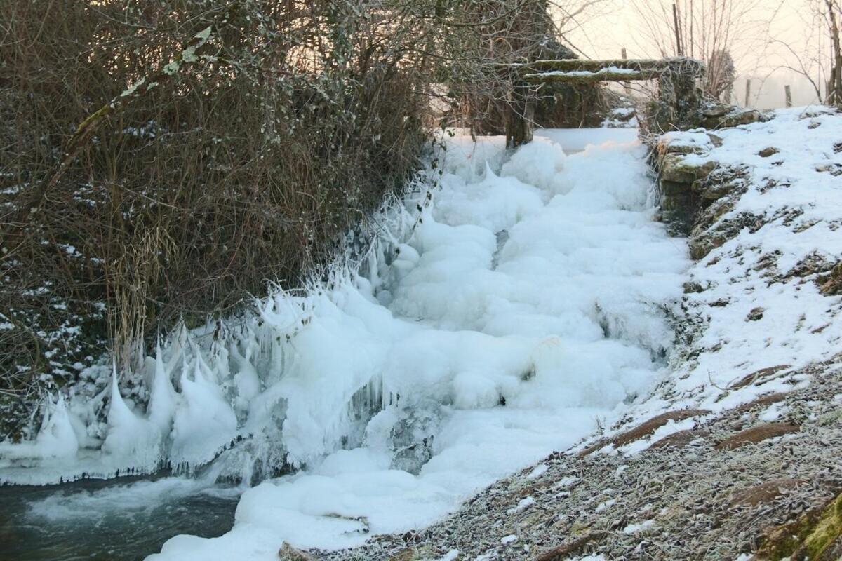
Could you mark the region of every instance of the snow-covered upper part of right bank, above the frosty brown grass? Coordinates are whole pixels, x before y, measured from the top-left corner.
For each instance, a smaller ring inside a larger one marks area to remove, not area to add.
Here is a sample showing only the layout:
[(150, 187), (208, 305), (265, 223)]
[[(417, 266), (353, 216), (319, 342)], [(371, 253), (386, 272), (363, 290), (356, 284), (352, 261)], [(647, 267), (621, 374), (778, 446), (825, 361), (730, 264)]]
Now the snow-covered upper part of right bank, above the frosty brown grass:
[[(710, 188), (722, 194), (690, 236), (691, 247), (707, 252), (687, 271), (678, 322), (685, 341), (671, 357), (673, 376), (607, 437), (665, 410), (719, 415), (803, 389), (811, 366), (839, 361), (842, 298), (820, 286), (842, 260), (840, 130), (838, 111), (808, 107), (712, 138), (706, 130), (662, 137), (684, 148), (684, 164), (715, 164)], [(766, 415), (774, 421), (781, 411)], [(697, 420), (669, 422), (619, 452), (640, 453)]]

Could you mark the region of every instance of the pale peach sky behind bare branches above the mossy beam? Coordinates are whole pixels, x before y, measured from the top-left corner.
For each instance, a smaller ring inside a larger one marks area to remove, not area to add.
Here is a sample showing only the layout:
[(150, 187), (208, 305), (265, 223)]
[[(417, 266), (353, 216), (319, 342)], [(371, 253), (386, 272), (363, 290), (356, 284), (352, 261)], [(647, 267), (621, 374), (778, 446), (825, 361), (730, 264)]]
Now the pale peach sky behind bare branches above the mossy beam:
[[(568, 0), (573, 5), (581, 0)], [(685, 0), (679, 0), (685, 1)], [(695, 5), (717, 0), (695, 0)], [(727, 2), (728, 0), (718, 0)], [(784, 86), (792, 87), (793, 103), (815, 103), (815, 89), (806, 77), (786, 68), (807, 66), (808, 73), (818, 79), (818, 66), (808, 59), (826, 51), (827, 41), (810, 21), (809, 0), (730, 0), (741, 7), (753, 6), (743, 16), (739, 33), (735, 34), (732, 56), (738, 67), (735, 95), (744, 103), (746, 78), (752, 80), (750, 105), (774, 108), (784, 105)], [(673, 0), (603, 0), (599, 8), (568, 25), (565, 37), (591, 58), (618, 58), (626, 47), (628, 56), (660, 56), (658, 48), (646, 35), (640, 7), (670, 8)], [(669, 53), (670, 55), (674, 53)], [(810, 56), (812, 55), (812, 56)], [(800, 60), (800, 62), (799, 62)]]

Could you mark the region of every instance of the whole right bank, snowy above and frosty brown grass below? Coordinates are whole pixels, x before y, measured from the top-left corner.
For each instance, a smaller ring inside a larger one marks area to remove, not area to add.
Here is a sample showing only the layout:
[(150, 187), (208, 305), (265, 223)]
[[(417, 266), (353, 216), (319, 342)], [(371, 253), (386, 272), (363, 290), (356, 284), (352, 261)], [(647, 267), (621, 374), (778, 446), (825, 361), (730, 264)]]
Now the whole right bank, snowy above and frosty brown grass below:
[(699, 260), (671, 376), (603, 434), (411, 540), (317, 558), (839, 558), (842, 113), (786, 109), (662, 140), (690, 177), (674, 183), (709, 204), (690, 213)]

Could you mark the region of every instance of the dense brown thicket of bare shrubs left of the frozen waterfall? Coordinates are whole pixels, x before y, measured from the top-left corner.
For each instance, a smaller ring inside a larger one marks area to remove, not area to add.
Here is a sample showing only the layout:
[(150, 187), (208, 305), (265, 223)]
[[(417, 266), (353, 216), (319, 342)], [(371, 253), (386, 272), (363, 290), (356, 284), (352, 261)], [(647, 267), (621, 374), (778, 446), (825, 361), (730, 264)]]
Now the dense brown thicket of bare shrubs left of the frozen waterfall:
[(411, 177), (420, 19), (355, 8), (0, 3), (0, 392), (295, 285)]

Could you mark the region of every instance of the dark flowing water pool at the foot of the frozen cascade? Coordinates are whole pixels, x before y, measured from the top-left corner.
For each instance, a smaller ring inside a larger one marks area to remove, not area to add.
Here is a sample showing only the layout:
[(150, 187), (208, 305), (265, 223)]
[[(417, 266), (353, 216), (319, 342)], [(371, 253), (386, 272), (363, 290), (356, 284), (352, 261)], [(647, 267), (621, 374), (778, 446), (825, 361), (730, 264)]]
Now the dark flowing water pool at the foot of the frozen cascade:
[(0, 561), (135, 561), (231, 529), (239, 490), (182, 478), (0, 487)]

